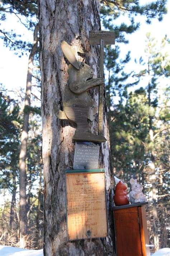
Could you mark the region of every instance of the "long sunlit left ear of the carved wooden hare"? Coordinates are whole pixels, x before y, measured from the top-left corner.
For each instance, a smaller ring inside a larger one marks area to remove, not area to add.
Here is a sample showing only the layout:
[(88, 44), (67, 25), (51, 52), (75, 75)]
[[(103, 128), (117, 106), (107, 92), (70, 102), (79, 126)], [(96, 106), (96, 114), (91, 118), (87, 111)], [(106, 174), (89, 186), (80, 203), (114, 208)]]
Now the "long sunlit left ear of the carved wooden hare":
[(79, 63), (76, 60), (75, 54), (71, 49), (71, 46), (66, 41), (61, 41), (61, 50), (64, 53), (64, 56), (67, 60), (73, 65), (76, 69), (79, 69)]

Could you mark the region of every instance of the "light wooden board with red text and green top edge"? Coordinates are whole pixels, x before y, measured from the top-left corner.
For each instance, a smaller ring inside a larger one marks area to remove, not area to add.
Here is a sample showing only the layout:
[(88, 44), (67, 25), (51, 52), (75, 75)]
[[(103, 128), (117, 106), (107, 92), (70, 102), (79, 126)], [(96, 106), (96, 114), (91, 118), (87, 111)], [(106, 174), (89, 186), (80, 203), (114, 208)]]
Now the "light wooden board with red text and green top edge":
[(101, 170), (66, 171), (68, 240), (108, 234), (105, 178)]

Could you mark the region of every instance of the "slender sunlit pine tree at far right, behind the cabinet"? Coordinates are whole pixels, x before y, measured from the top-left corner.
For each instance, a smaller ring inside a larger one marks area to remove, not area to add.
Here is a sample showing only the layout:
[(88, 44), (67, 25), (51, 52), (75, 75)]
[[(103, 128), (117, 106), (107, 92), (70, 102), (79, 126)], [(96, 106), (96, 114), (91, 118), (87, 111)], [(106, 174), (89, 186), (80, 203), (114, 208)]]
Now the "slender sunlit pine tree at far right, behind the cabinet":
[[(166, 52), (166, 44), (169, 43), (169, 40), (165, 36), (162, 39), (160, 50), (158, 49), (157, 42), (155, 38), (151, 37), (150, 33), (146, 34), (146, 56), (147, 62), (143, 65), (147, 66), (147, 68), (143, 69), (139, 76), (146, 76), (148, 78), (148, 83), (146, 86), (146, 94), (147, 94), (147, 102), (146, 106), (148, 107), (148, 138), (146, 143), (146, 150), (148, 152), (149, 158), (149, 182), (151, 183), (151, 192), (152, 192), (152, 200), (153, 200), (153, 210), (152, 210), (152, 224), (153, 224), (153, 232), (154, 232), (154, 245), (155, 250), (159, 250), (160, 248), (160, 238), (159, 237), (159, 229), (160, 220), (158, 216), (159, 208), (157, 207), (158, 202), (158, 186), (159, 186), (159, 177), (157, 175), (157, 170), (161, 170), (159, 164), (157, 163), (157, 159), (159, 159), (159, 154), (157, 152), (157, 136), (159, 133), (162, 133), (160, 130), (160, 124), (162, 123), (159, 120), (159, 109), (158, 109), (158, 84), (161, 83), (161, 79), (165, 79), (170, 75), (170, 56)], [(165, 50), (164, 50), (165, 49)], [(160, 103), (162, 102), (162, 98), (160, 98)], [(158, 112), (158, 113), (157, 113)], [(158, 123), (160, 121), (160, 124)], [(157, 135), (156, 135), (157, 134)], [(159, 195), (161, 196), (161, 195)], [(152, 219), (151, 218), (151, 219)]]

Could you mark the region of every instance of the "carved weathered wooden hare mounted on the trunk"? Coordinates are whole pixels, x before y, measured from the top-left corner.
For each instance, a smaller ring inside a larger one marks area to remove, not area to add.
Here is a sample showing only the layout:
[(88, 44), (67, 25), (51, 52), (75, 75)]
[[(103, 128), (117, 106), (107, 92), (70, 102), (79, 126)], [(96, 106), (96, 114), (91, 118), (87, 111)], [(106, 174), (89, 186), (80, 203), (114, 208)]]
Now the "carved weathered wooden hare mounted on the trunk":
[[(92, 121), (98, 110), (96, 102), (89, 96), (88, 89), (104, 83), (101, 78), (93, 79), (93, 70), (89, 65), (78, 62), (75, 57), (76, 49), (65, 41), (61, 42), (62, 51), (71, 63), (68, 66), (69, 79), (63, 96), (63, 111), (54, 103), (55, 115), (60, 119), (68, 119), (77, 125), (74, 140), (104, 142), (103, 136), (89, 132), (88, 119)], [(78, 50), (82, 52), (82, 50)]]

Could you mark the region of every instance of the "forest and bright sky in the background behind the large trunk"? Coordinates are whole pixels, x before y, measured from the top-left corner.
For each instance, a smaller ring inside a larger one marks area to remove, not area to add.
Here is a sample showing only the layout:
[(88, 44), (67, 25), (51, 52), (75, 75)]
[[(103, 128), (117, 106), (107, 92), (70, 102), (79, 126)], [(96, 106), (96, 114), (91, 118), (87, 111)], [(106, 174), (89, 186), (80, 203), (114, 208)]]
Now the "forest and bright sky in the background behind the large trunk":
[[(131, 177), (137, 178), (147, 199), (154, 201), (147, 207), (148, 232), (154, 251), (168, 247), (170, 41), (166, 36), (166, 7), (169, 2), (101, 1), (100, 6), (102, 29), (114, 30), (116, 37), (114, 47), (105, 47), (104, 58), (112, 166), (114, 174), (128, 185)], [(19, 230), (25, 227), (24, 247), (42, 248), (37, 3), (1, 1), (0, 13), (0, 43), (5, 53), (0, 66), (4, 73), (0, 80), (0, 244), (21, 246)], [(160, 23), (151, 27), (157, 20)], [(139, 34), (141, 39), (137, 41)], [(15, 56), (7, 57), (7, 49)], [(19, 179), (23, 170), (26, 184)], [(26, 213), (19, 211), (22, 193)]]

